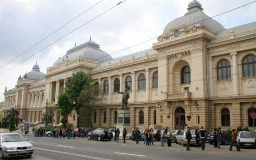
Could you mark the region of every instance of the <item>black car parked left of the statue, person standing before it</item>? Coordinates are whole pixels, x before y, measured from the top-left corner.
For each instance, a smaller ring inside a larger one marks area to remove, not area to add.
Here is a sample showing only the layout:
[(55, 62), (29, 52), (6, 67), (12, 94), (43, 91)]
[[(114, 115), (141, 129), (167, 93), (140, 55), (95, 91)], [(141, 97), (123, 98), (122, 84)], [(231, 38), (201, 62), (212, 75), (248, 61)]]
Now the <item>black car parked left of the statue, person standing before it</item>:
[[(102, 129), (102, 128), (95, 129), (92, 132), (89, 132), (87, 134), (87, 139), (88, 140), (98, 140), (98, 141), (101, 141), (101, 140), (103, 140), (103, 131), (104, 131), (104, 129)], [(108, 130), (107, 134), (108, 134), (107, 135), (107, 139), (109, 141), (111, 141), (111, 139), (113, 138), (113, 133), (110, 130)]]

